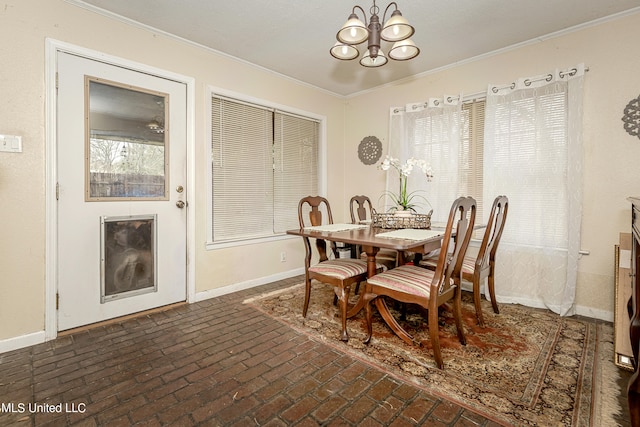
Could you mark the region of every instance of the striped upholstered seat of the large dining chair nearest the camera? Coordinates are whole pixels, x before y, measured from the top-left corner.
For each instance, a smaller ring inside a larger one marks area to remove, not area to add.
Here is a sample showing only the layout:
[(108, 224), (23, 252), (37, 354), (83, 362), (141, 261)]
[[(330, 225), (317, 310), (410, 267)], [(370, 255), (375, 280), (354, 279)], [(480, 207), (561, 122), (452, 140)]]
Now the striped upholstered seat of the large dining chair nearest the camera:
[(414, 265), (401, 265), (368, 279), (370, 285), (398, 290), (418, 297), (429, 298), (434, 272)]

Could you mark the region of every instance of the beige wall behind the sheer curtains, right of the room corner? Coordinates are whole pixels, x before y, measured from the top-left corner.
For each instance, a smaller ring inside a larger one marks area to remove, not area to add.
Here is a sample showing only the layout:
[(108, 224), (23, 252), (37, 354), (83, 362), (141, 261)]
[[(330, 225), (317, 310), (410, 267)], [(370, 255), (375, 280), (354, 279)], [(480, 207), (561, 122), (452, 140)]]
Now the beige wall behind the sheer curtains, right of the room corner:
[[(582, 314), (612, 319), (614, 245), (619, 232), (629, 232), (626, 197), (640, 194), (640, 139), (627, 134), (621, 121), (624, 107), (640, 95), (638, 40), (640, 14), (635, 14), (351, 98), (345, 146), (354, 174), (346, 182), (345, 199), (379, 194), (384, 186), (383, 173), (358, 161), (357, 146), (363, 137), (376, 135), (386, 152), (390, 107), (482, 92), (490, 83), (510, 83), (583, 62), (590, 71), (584, 97), (582, 248), (590, 255), (580, 260), (577, 305)], [(421, 55), (428, 54), (423, 46)]]

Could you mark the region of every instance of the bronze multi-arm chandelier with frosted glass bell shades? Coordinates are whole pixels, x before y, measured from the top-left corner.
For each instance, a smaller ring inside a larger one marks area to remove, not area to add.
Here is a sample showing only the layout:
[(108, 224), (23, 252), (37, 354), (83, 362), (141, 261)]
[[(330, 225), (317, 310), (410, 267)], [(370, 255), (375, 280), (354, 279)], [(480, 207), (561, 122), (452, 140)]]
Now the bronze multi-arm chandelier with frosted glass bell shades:
[[(391, 2), (386, 7), (382, 15), (382, 22), (384, 22), (387, 11), (391, 6), (394, 6), (395, 10), (391, 13), (384, 27), (380, 25), (380, 18), (378, 17), (380, 8), (376, 6), (375, 0), (369, 11), (371, 17), (369, 18), (368, 25), (366, 25), (367, 15), (365, 11), (360, 6), (354, 6), (347, 22), (336, 35), (338, 41), (331, 48), (331, 55), (334, 58), (344, 61), (355, 59), (360, 55), (356, 46), (367, 40), (367, 51), (360, 59), (360, 65), (365, 67), (381, 67), (388, 61), (384, 52), (380, 49), (380, 40), (384, 40), (393, 42), (393, 46), (391, 50), (389, 50), (389, 58), (391, 59), (406, 61), (418, 56), (420, 49), (418, 49), (415, 43), (409, 38), (415, 32), (415, 29), (409, 25), (409, 22), (402, 16), (396, 2)], [(356, 15), (356, 9), (362, 12), (364, 22)]]

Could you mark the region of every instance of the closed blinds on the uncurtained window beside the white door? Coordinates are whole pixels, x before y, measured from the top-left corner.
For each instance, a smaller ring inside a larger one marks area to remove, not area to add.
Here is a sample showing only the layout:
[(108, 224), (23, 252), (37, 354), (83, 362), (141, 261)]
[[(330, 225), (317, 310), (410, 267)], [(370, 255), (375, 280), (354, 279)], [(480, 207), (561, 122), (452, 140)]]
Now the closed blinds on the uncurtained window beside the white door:
[(319, 122), (213, 95), (211, 241), (298, 227), (298, 201), (318, 194)]

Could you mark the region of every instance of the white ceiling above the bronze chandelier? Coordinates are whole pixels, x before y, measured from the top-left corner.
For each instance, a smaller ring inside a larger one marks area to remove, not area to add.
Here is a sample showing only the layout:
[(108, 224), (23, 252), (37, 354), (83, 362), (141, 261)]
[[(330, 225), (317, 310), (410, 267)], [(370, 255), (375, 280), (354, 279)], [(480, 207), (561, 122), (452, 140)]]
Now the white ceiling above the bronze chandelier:
[[(329, 49), (353, 6), (360, 5), (368, 21), (372, 0), (66, 1), (342, 96), (541, 40), (612, 15), (640, 12), (639, 0), (398, 0), (398, 8), (416, 29), (412, 39), (420, 55), (369, 69), (357, 60), (334, 59)], [(381, 20), (387, 4), (377, 3)], [(386, 52), (389, 45), (385, 43), (382, 49)]]

